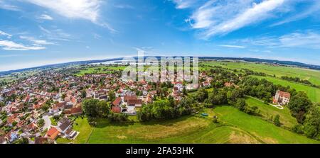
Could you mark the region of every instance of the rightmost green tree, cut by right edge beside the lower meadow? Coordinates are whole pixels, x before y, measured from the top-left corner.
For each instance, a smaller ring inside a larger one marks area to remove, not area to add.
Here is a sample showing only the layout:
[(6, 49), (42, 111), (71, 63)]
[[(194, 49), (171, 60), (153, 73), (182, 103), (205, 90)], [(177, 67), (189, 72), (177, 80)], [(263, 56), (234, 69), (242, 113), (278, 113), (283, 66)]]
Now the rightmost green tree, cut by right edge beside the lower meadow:
[(311, 106), (304, 120), (304, 132), (307, 137), (319, 137), (320, 132), (320, 110), (319, 107)]

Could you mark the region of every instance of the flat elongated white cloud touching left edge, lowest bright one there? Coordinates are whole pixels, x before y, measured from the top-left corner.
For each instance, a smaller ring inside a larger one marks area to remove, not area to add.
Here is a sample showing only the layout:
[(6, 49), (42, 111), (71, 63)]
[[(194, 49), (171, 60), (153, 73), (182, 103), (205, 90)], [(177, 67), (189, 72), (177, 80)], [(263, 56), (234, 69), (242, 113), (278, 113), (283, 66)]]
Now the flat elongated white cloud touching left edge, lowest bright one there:
[(4, 50), (44, 50), (46, 47), (42, 46), (28, 46), (19, 43), (14, 43), (9, 40), (0, 40), (0, 47)]

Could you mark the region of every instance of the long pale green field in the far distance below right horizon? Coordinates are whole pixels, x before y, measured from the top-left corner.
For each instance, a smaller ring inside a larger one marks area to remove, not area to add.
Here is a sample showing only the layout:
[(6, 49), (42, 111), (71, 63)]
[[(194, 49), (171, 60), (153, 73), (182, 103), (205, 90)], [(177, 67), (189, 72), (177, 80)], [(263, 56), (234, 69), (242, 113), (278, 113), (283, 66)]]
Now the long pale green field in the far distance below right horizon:
[(251, 69), (255, 72), (264, 72), (276, 77), (299, 77), (309, 80), (312, 84), (320, 85), (320, 71), (314, 69), (302, 69), (297, 67), (279, 67), (269, 64), (255, 64), (250, 62), (201, 62), (201, 64), (220, 66), (230, 69)]

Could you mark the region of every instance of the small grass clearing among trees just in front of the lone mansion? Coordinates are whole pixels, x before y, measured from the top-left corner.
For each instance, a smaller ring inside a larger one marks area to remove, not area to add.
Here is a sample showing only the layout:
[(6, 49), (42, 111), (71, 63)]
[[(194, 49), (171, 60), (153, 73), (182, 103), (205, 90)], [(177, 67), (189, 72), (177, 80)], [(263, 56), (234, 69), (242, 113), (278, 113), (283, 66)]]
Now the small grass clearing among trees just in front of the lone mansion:
[(284, 109), (281, 110), (250, 97), (247, 97), (245, 101), (247, 102), (248, 106), (257, 106), (260, 109), (260, 114), (262, 115), (261, 117), (265, 120), (272, 121), (273, 119), (271, 118), (274, 118), (275, 115), (279, 115), (280, 122), (283, 126), (292, 128), (297, 124), (297, 120), (292, 117), (289, 108), (287, 107), (284, 107)]

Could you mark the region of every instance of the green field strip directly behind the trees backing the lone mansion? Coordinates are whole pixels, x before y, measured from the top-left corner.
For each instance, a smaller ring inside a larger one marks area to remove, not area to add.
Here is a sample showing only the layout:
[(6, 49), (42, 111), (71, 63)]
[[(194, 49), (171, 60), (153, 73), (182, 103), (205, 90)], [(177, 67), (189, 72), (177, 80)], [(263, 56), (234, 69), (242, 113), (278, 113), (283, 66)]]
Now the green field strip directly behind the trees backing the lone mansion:
[(317, 89), (315, 87), (306, 86), (304, 84), (297, 84), (292, 81), (286, 81), (275, 77), (253, 77), (257, 77), (258, 79), (267, 79), (268, 81), (272, 81), (274, 84), (280, 84), (282, 86), (290, 86), (291, 88), (296, 89), (297, 91), (304, 91), (306, 92), (311, 101), (320, 103), (320, 89)]

